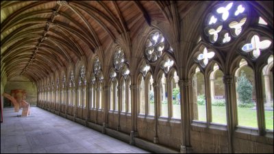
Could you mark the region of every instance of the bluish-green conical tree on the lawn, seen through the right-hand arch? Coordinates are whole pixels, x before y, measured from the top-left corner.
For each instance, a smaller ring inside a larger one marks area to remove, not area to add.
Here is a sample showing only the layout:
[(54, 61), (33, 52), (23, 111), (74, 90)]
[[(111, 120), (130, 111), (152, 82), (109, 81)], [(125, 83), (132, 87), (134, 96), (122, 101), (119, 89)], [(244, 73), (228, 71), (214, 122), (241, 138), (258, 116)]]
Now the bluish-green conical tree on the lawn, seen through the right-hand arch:
[(240, 77), (237, 79), (237, 92), (240, 103), (252, 104), (252, 90), (253, 86), (251, 82), (247, 79), (245, 73), (243, 71), (240, 72)]

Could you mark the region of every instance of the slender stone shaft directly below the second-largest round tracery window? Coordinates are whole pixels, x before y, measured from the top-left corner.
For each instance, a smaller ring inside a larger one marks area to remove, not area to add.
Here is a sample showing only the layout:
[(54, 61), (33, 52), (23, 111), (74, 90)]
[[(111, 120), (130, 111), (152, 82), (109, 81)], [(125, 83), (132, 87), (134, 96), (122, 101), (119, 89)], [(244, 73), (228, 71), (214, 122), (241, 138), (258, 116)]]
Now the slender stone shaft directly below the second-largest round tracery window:
[(153, 90), (154, 90), (154, 115), (155, 115), (155, 133), (153, 138), (153, 143), (158, 143), (158, 105), (160, 105), (160, 92), (159, 92), (159, 84), (157, 82), (153, 83)]

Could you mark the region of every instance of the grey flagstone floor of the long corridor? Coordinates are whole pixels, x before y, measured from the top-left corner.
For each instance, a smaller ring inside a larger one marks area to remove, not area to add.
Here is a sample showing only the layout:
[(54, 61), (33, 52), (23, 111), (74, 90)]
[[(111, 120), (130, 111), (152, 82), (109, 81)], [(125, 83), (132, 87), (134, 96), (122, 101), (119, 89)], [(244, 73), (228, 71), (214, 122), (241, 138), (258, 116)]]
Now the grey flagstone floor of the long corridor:
[(38, 107), (4, 108), (1, 153), (149, 153)]

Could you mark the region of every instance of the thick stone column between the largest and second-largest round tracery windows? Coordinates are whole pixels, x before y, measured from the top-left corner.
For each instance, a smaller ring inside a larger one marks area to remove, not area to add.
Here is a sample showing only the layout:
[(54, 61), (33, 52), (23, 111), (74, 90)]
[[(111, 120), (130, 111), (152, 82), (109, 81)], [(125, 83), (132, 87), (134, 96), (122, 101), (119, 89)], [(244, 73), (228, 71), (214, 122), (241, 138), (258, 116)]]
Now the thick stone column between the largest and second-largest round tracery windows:
[(191, 153), (190, 146), (190, 79), (179, 80), (180, 94), (181, 94), (181, 153)]

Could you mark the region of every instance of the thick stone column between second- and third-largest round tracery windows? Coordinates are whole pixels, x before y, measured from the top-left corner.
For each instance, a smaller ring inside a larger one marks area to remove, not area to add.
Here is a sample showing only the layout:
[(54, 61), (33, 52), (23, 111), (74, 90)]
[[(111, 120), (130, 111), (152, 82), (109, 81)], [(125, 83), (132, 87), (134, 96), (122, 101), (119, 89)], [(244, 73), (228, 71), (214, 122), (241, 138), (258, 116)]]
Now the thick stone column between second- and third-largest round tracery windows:
[(135, 84), (129, 86), (131, 95), (132, 95), (132, 131), (130, 132), (130, 141), (129, 144), (134, 145), (134, 137), (138, 136), (137, 134), (137, 97), (138, 97), (138, 87)]

